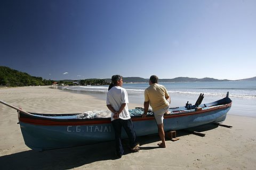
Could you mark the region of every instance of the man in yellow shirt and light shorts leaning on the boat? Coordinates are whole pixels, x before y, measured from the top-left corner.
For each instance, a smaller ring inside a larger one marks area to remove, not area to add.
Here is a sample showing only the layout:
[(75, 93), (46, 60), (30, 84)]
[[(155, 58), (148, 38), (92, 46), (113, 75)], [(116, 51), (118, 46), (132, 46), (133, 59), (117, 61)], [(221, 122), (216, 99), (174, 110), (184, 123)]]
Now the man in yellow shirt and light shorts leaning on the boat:
[(165, 134), (164, 134), (164, 114), (169, 114), (169, 106), (171, 103), (171, 98), (167, 93), (166, 88), (158, 84), (158, 77), (156, 75), (151, 75), (149, 78), (149, 87), (145, 90), (144, 96), (144, 114), (143, 118), (147, 116), (149, 104), (153, 109), (155, 120), (158, 127), (158, 135), (162, 140), (162, 143), (158, 143), (159, 147), (165, 148)]

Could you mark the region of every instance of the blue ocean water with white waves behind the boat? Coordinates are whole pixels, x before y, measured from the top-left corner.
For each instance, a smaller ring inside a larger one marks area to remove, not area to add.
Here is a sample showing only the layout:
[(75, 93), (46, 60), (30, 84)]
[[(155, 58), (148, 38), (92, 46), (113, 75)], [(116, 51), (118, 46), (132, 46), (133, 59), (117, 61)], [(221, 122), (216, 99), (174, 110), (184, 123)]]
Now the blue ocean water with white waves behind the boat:
[[(226, 96), (233, 100), (229, 114), (241, 116), (256, 116), (256, 81), (221, 81), (221, 82), (176, 82), (163, 84), (171, 96), (171, 107), (185, 106), (187, 101), (195, 104), (198, 96), (204, 94), (202, 103), (209, 103)], [(148, 83), (124, 83), (129, 102), (142, 105), (144, 90)], [(108, 86), (69, 86), (61, 90), (93, 95), (99, 99), (106, 99)]]

